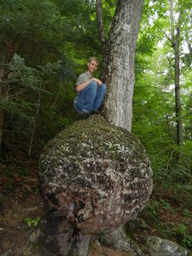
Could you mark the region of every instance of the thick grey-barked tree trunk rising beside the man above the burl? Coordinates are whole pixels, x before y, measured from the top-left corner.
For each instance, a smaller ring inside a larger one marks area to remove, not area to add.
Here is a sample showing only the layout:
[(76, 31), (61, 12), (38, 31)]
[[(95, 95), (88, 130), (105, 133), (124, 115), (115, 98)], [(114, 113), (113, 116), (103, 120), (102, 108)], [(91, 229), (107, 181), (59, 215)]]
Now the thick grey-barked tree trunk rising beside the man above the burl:
[(103, 55), (102, 80), (107, 85), (104, 115), (131, 131), (134, 61), (143, 0), (119, 0)]

